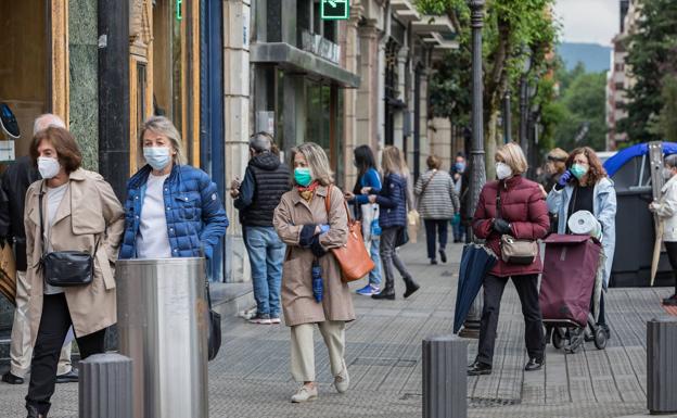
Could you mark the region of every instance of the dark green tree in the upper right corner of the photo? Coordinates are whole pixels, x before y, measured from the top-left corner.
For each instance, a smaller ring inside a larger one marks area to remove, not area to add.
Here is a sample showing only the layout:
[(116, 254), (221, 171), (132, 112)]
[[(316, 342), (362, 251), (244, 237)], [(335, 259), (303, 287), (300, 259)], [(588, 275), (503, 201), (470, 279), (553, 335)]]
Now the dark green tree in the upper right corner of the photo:
[[(631, 142), (662, 140), (667, 135), (659, 123), (669, 97), (672, 83), (666, 75), (677, 75), (677, 7), (675, 0), (639, 0), (642, 18), (627, 39), (626, 64), (635, 78), (627, 91), (628, 116), (618, 122), (618, 130)], [(668, 86), (664, 88), (664, 84)], [(668, 104), (669, 105), (669, 104)], [(669, 117), (669, 116), (665, 116)], [(664, 117), (664, 118), (665, 118)], [(656, 128), (657, 123), (657, 128)]]

